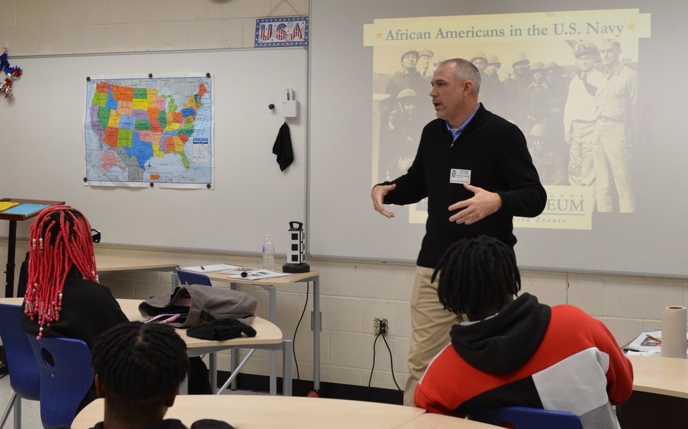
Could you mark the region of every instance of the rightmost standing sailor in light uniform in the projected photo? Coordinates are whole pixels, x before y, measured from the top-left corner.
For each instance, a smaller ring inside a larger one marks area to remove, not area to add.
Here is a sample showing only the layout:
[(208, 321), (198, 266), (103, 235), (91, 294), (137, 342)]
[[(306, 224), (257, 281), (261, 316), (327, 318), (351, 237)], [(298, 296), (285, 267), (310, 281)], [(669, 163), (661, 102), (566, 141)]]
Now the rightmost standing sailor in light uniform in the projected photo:
[(615, 188), (619, 197), (619, 211), (634, 213), (632, 164), (638, 74), (619, 61), (621, 44), (618, 41), (604, 41), (599, 54), (604, 67), (605, 84), (597, 94), (597, 123), (592, 149), (597, 211), (614, 210)]

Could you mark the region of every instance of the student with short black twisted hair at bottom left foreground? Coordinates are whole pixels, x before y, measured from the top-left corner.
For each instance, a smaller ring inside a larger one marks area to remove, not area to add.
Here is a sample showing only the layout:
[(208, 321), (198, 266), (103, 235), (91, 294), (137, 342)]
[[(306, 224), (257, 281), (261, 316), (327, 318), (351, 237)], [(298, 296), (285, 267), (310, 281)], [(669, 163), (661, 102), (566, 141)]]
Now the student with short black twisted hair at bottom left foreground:
[[(103, 333), (91, 355), (98, 397), (105, 398), (105, 417), (93, 429), (186, 429), (164, 419), (189, 373), (186, 344), (174, 328), (126, 322)], [(215, 420), (191, 428), (233, 429)]]

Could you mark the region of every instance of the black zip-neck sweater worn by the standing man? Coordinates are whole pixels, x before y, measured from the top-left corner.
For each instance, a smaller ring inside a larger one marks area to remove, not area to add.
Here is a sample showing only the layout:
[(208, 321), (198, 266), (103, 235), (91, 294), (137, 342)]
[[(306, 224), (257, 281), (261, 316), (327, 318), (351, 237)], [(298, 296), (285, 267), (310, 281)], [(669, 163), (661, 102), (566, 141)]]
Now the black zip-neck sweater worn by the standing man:
[[(460, 183), (451, 183), (451, 169), (468, 170), (470, 184), (496, 192), (502, 207), (474, 224), (449, 222), (449, 206), (473, 197)], [(528, 154), (521, 130), (482, 104), (456, 141), (447, 123), (436, 119), (423, 129), (416, 159), (385, 196), (385, 204), (407, 205), (428, 197), (428, 220), (418, 265), (435, 268), (450, 244), (486, 235), (516, 244), (513, 216), (532, 218), (545, 207), (547, 195)]]

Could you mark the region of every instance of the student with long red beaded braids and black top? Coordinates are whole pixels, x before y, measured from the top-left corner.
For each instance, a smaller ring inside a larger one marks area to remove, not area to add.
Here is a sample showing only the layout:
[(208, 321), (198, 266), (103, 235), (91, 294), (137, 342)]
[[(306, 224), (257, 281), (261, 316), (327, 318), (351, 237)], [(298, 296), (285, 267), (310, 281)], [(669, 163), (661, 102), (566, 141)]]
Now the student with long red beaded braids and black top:
[[(98, 335), (127, 322), (109, 289), (98, 284), (91, 225), (80, 211), (66, 205), (41, 211), (31, 226), (29, 253), (25, 332), (81, 339), (92, 348)], [(94, 399), (92, 386), (79, 409)]]

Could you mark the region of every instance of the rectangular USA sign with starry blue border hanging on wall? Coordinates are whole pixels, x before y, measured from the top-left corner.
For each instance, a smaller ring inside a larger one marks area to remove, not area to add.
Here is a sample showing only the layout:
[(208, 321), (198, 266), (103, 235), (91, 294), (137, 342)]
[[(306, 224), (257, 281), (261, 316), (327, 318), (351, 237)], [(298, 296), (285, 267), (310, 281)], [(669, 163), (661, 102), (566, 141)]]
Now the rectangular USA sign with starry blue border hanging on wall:
[(308, 17), (256, 19), (255, 48), (308, 45)]

